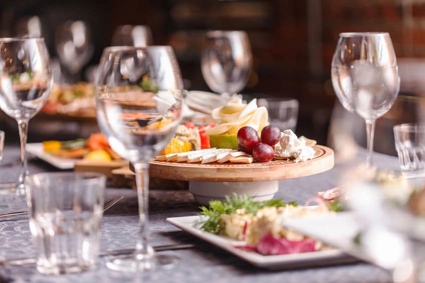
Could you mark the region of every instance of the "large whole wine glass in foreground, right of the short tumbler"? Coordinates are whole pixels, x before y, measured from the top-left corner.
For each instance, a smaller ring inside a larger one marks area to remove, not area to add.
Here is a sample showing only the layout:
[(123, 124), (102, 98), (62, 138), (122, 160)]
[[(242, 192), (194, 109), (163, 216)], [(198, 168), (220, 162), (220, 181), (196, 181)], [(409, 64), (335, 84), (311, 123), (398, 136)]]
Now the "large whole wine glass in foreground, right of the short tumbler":
[(136, 172), (140, 238), (133, 256), (107, 263), (114, 270), (172, 266), (148, 243), (149, 161), (170, 142), (181, 119), (183, 83), (171, 47), (108, 47), (95, 84), (97, 121), (112, 149)]

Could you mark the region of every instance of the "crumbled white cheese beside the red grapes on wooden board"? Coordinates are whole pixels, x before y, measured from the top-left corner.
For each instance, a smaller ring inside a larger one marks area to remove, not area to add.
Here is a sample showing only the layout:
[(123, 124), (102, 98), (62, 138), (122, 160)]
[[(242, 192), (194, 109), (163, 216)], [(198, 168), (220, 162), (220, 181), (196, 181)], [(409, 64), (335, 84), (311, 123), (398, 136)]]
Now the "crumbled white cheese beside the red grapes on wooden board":
[(292, 130), (283, 131), (279, 143), (275, 145), (275, 155), (294, 158), (295, 162), (313, 159), (314, 153), (314, 149), (306, 145), (305, 139), (299, 139)]

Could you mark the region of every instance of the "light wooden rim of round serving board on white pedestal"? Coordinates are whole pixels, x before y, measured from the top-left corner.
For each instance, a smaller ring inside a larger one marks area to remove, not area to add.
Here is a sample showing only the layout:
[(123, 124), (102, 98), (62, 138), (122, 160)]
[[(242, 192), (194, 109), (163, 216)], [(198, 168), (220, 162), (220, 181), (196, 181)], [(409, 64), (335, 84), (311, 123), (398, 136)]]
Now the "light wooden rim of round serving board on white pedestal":
[(313, 146), (316, 154), (311, 160), (273, 160), (266, 163), (177, 163), (151, 161), (150, 176), (180, 181), (203, 182), (259, 182), (299, 178), (332, 169), (333, 150), (322, 145)]

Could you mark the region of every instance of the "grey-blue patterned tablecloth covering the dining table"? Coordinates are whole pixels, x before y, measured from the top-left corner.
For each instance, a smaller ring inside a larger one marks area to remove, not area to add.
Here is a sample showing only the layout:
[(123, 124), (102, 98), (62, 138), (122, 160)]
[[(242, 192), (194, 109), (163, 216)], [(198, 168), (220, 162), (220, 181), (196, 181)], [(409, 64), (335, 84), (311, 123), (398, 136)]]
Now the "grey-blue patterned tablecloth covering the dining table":
[[(19, 175), (20, 152), (18, 146), (6, 146), (0, 167), (0, 182), (13, 182)], [(357, 161), (365, 155), (360, 153)], [(397, 170), (397, 159), (375, 154), (380, 169)], [(352, 165), (352, 163), (351, 163)], [(279, 182), (275, 195), (286, 201), (303, 203), (323, 191), (338, 185), (338, 179), (349, 164), (336, 164), (330, 171)], [(36, 159), (29, 161), (30, 173), (56, 171), (54, 167)], [(101, 249), (133, 248), (138, 234), (137, 196), (132, 189), (107, 188), (105, 202), (123, 196), (118, 204), (105, 212), (101, 223)], [(250, 265), (214, 245), (201, 241), (166, 222), (167, 217), (196, 215), (198, 205), (187, 191), (151, 191), (150, 241), (152, 245), (194, 243), (190, 249), (166, 251), (180, 257), (179, 265), (171, 270), (158, 270), (143, 274), (112, 271), (100, 260), (96, 270), (61, 276), (45, 276), (37, 272), (34, 264), (0, 266), (0, 282), (390, 282), (389, 272), (367, 263), (333, 265), (294, 270), (268, 271)], [(26, 210), (23, 197), (0, 195), (0, 213)], [(0, 219), (0, 259), (35, 256), (28, 216)]]

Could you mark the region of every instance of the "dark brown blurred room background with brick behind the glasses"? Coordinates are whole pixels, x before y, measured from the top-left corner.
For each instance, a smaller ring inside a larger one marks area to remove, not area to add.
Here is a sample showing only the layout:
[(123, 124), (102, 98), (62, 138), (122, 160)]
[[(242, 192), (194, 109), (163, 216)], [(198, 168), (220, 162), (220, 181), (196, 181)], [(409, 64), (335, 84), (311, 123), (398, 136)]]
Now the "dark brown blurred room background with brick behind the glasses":
[[(55, 57), (56, 27), (66, 20), (84, 20), (90, 26), (95, 46), (94, 56), (87, 65), (90, 66), (99, 62), (103, 48), (111, 44), (112, 33), (118, 25), (147, 25), (152, 29), (154, 44), (174, 48), (188, 89), (208, 90), (199, 63), (205, 31), (247, 31), (254, 66), (242, 93), (297, 98), (300, 101), (297, 134), (326, 144), (336, 101), (330, 82), (330, 64), (338, 34), (386, 31), (390, 33), (399, 62), (403, 57), (422, 57), (425, 54), (425, 3), (422, 3), (408, 0), (16, 0), (0, 4), (0, 35), (13, 36), (19, 19), (37, 15), (42, 21), (50, 54)], [(421, 83), (407, 84), (402, 79), (401, 90), (405, 94), (420, 95)], [(398, 117), (401, 120), (406, 118), (401, 116)]]

